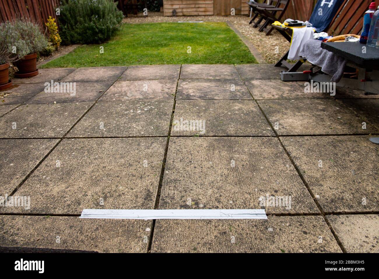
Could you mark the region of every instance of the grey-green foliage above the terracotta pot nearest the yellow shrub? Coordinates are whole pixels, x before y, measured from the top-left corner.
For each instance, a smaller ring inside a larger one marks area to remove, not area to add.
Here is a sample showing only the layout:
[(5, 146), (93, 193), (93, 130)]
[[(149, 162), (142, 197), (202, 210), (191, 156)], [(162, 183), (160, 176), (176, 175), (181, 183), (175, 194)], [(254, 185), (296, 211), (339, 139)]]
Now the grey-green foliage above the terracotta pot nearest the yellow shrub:
[(25, 41), (28, 54), (38, 53), (49, 46), (47, 38), (42, 33), (38, 24), (28, 20), (15, 20), (13, 22), (21, 40)]

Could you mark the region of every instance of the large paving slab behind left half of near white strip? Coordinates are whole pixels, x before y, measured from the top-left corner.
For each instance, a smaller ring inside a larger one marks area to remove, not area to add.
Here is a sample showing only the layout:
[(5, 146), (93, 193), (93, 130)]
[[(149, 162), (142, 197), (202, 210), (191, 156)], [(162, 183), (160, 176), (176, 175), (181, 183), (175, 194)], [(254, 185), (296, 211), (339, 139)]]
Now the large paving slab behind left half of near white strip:
[(165, 147), (165, 138), (64, 139), (16, 192), (30, 196), (30, 210), (4, 210), (153, 209)]

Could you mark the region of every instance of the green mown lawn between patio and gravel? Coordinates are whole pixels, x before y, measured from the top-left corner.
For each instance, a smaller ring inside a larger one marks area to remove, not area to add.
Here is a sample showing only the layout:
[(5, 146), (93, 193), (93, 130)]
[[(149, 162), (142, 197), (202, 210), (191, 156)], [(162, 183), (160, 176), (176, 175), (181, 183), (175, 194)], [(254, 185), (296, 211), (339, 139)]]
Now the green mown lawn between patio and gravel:
[(257, 61), (224, 22), (148, 23), (123, 24), (110, 41), (77, 47), (39, 68), (249, 63)]

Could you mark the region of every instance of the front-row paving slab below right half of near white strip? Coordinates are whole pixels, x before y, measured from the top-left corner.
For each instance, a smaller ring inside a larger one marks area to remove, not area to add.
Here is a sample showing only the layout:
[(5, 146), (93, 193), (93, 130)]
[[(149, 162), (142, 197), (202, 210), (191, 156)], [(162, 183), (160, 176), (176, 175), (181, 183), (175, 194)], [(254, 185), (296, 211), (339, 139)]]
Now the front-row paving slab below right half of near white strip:
[(341, 252), (321, 216), (268, 220), (157, 220), (152, 252)]

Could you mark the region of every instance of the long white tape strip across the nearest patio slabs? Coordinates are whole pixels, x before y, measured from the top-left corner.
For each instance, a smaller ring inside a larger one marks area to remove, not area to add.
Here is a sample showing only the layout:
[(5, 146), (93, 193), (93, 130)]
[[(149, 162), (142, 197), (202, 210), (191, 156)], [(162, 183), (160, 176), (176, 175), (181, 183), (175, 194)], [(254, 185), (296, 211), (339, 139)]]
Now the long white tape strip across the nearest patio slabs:
[(96, 219), (267, 219), (264, 209), (84, 209)]

